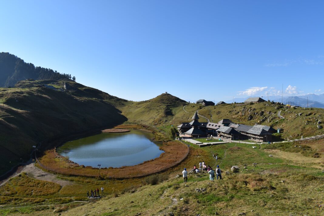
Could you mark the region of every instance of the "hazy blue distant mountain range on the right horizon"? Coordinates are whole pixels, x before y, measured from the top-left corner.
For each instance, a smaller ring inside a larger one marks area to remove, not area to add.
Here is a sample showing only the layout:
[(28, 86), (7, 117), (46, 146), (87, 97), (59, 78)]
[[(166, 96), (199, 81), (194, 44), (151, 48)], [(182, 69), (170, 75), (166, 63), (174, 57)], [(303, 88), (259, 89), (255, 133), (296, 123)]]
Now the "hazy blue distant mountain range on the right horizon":
[[(255, 97), (255, 96), (253, 96)], [(307, 97), (308, 97), (308, 107), (315, 107), (315, 108), (324, 108), (324, 93), (320, 95), (316, 94), (307, 94), (301, 96), (289, 96), (283, 97), (280, 96), (269, 96), (269, 100), (273, 100), (274, 102), (282, 102), (284, 104), (295, 105), (299, 107), (307, 107)], [(235, 98), (234, 101), (236, 103), (242, 103), (249, 97), (245, 98)], [(267, 100), (267, 97), (262, 97), (263, 99)], [(226, 103), (233, 103), (233, 100), (225, 101)]]

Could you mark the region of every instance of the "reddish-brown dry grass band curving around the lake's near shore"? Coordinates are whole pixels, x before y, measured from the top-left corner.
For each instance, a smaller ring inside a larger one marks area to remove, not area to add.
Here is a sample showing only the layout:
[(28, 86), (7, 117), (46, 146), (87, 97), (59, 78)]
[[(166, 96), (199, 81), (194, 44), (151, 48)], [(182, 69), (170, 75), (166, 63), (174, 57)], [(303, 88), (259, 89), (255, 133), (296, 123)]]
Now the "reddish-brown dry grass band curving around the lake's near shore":
[[(160, 149), (163, 150), (164, 153), (154, 160), (145, 161), (135, 166), (102, 168), (100, 169), (100, 176), (116, 179), (147, 176), (178, 165), (187, 157), (189, 152), (189, 148), (185, 144), (175, 141), (165, 143)], [(56, 153), (55, 150), (46, 151), (39, 161), (44, 166), (43, 168), (64, 175), (98, 176), (98, 168), (78, 166)]]

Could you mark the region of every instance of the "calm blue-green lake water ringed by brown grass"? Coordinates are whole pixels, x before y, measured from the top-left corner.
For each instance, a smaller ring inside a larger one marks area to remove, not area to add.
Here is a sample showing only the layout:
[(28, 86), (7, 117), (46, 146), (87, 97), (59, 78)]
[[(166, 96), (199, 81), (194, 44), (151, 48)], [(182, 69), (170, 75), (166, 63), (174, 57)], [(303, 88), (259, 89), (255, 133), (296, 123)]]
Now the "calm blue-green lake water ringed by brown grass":
[(143, 163), (160, 156), (159, 143), (153, 134), (139, 130), (126, 133), (101, 133), (70, 141), (57, 148), (57, 152), (79, 165), (121, 167)]

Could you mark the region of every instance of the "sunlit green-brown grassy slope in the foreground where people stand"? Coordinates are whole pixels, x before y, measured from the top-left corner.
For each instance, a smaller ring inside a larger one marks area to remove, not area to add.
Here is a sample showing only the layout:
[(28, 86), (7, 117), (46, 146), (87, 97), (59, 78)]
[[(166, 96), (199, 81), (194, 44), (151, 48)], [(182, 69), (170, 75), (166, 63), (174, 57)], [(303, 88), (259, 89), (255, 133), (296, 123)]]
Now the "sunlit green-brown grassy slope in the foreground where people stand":
[[(289, 143), (292, 147), (298, 143)], [(305, 142), (313, 151), (323, 153), (323, 141)], [(61, 189), (48, 188), (49, 182), (31, 181), (32, 176), (10, 180), (0, 188), (0, 213), (6, 215), (322, 215), (323, 158), (303, 156), (299, 152), (285, 152), (260, 148), (250, 144), (227, 143), (199, 148), (190, 147), (190, 155), (179, 166), (158, 176), (145, 179), (101, 181), (80, 177), (64, 177), (70, 181)], [(218, 154), (218, 161), (212, 154)], [(272, 154), (273, 157), (268, 155)], [(210, 181), (206, 172), (189, 174), (184, 184), (181, 174), (204, 160), (213, 168), (222, 169), (222, 180)], [(232, 165), (239, 172), (230, 171)], [(163, 176), (163, 178), (162, 178)], [(155, 181), (155, 177), (157, 180)], [(162, 181), (162, 183), (159, 183)], [(159, 183), (156, 185), (156, 183)], [(152, 185), (151, 185), (152, 184)], [(26, 188), (44, 188), (35, 194)], [(144, 186), (143, 186), (144, 185)], [(104, 198), (93, 203), (86, 191), (104, 186)], [(205, 189), (203, 192), (197, 189)], [(85, 205), (83, 205), (85, 204)], [(82, 206), (79, 206), (82, 205)], [(244, 214), (242, 214), (244, 213)]]

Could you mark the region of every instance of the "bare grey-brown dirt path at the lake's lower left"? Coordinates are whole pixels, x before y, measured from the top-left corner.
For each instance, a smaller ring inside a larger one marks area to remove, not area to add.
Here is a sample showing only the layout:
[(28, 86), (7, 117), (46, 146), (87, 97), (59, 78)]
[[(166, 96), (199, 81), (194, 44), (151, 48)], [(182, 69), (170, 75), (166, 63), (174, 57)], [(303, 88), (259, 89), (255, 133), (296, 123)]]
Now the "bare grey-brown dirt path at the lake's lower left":
[(30, 177), (33, 177), (33, 178), (36, 178), (39, 180), (43, 180), (43, 181), (51, 181), (51, 182), (61, 185), (62, 187), (65, 185), (73, 184), (70, 181), (59, 179), (59, 178), (57, 178), (57, 176), (55, 174), (47, 173), (47, 172), (41, 170), (40, 168), (38, 168), (37, 166), (34, 166), (34, 164), (30, 163), (28, 165), (24, 165), (21, 169), (19, 169), (19, 171), (14, 173), (12, 176), (8, 177), (6, 180), (2, 181), (0, 184), (0, 187), (2, 185), (4, 185), (10, 178), (18, 176), (20, 173), (23, 173), (23, 172), (27, 173), (28, 176), (30, 176)]

